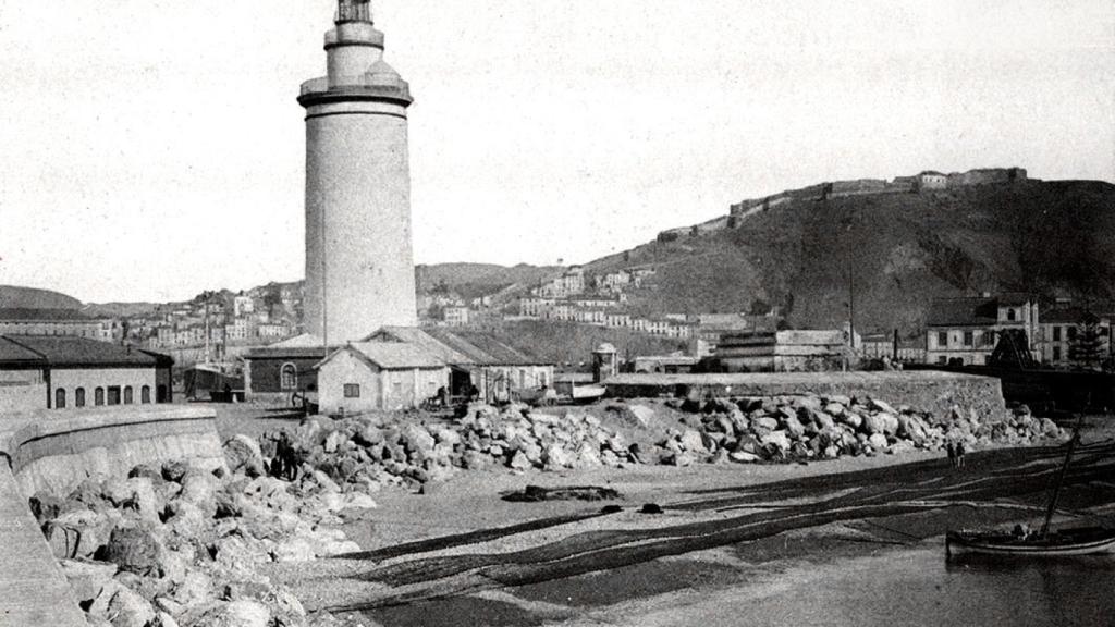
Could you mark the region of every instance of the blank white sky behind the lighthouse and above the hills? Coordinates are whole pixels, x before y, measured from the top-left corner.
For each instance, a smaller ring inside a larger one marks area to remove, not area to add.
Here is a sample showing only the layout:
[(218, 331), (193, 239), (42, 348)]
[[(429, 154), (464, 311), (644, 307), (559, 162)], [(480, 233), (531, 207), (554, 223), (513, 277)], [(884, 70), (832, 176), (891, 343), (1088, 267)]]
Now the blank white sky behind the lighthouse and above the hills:
[[(171, 300), (303, 273), (332, 0), (0, 3), (0, 283)], [(1115, 181), (1115, 2), (379, 0), (415, 254), (583, 262), (788, 187)]]

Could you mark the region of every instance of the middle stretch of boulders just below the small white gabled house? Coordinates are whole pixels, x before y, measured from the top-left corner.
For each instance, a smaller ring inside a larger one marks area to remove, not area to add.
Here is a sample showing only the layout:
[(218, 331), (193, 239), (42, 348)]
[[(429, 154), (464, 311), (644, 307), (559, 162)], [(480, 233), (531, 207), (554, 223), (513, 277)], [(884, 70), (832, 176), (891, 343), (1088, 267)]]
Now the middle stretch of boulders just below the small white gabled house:
[[(336, 421), (314, 416), (287, 436), (303, 467), (371, 491), (445, 480), (459, 470), (553, 471), (636, 461), (623, 436), (599, 418), (537, 413), (525, 405), (476, 405), (452, 421), (417, 413)], [(262, 456), (277, 455), (281, 438), (279, 432), (264, 434)]]

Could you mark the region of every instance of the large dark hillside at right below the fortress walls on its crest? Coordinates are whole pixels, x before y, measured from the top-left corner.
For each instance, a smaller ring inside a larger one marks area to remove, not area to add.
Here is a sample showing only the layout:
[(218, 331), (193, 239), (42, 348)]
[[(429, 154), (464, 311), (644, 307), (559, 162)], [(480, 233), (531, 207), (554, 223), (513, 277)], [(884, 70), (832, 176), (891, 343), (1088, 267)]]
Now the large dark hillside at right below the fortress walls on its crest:
[(746, 216), (673, 230), (586, 266), (650, 266), (640, 312), (780, 306), (797, 327), (847, 319), (917, 329), (934, 297), (1032, 291), (1115, 297), (1115, 185), (1017, 181), (878, 195), (792, 196)]

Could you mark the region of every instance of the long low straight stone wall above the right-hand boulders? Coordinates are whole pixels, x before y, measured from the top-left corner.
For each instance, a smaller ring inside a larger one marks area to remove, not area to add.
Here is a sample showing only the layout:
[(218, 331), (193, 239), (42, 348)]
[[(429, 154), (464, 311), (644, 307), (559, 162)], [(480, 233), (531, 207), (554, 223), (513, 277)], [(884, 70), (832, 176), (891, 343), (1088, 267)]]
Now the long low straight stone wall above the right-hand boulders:
[(617, 398), (841, 395), (883, 398), (939, 415), (953, 406), (985, 415), (1006, 408), (999, 379), (939, 372), (617, 375), (604, 386)]

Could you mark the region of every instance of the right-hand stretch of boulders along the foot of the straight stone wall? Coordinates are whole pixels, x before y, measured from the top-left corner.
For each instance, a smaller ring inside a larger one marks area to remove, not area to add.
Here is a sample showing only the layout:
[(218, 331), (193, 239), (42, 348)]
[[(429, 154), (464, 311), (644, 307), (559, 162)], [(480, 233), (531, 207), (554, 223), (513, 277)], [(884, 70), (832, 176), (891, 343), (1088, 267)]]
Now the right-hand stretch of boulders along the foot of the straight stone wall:
[(948, 415), (934, 416), (876, 398), (815, 395), (688, 399), (672, 405), (694, 416), (685, 421), (687, 428), (668, 430), (656, 450), (659, 462), (676, 465), (834, 460), (915, 448), (940, 451), (949, 442), (971, 450), (1066, 437), (1056, 423), (1036, 418), (1025, 407), (982, 417), (953, 407)]

